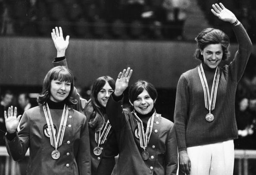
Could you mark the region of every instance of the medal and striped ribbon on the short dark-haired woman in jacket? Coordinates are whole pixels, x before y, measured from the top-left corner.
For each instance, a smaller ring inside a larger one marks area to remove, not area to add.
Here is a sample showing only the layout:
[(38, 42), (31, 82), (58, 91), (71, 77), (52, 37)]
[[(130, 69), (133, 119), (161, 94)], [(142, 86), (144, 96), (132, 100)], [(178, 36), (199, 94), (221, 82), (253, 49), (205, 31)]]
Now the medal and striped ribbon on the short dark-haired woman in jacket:
[(147, 152), (147, 144), (150, 139), (150, 135), (152, 133), (152, 128), (153, 128), (153, 123), (154, 123), (154, 117), (156, 112), (153, 113), (153, 115), (150, 117), (150, 119), (147, 121), (147, 130), (146, 134), (144, 133), (144, 127), (143, 123), (140, 120), (140, 118), (136, 115), (136, 112), (134, 111), (134, 116), (137, 121), (138, 125), (138, 131), (139, 131), (139, 137), (140, 137), (140, 147), (143, 148), (144, 151), (141, 152), (141, 157), (143, 160), (148, 160), (149, 158), (149, 153)]

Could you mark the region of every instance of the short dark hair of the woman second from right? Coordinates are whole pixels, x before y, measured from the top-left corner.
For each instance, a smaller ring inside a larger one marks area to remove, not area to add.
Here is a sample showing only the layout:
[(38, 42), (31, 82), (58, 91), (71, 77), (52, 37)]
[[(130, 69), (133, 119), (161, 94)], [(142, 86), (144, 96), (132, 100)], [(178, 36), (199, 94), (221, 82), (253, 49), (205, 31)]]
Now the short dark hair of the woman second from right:
[(136, 83), (132, 84), (129, 89), (129, 100), (133, 103), (138, 95), (140, 95), (144, 89), (148, 92), (150, 97), (155, 101), (157, 98), (157, 91), (156, 88), (150, 82), (145, 80), (138, 80)]

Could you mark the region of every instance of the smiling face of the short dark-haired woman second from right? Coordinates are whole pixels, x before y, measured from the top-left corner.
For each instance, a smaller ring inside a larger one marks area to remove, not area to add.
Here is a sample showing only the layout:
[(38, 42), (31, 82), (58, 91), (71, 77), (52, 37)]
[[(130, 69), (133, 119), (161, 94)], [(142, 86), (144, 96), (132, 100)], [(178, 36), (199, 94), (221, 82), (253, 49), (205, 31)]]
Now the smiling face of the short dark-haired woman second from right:
[[(132, 106), (134, 106), (135, 111), (142, 115), (150, 113), (154, 107), (154, 100), (150, 97), (148, 92), (144, 89), (142, 93), (138, 95), (136, 100), (134, 100)], [(131, 102), (130, 102), (131, 103)]]

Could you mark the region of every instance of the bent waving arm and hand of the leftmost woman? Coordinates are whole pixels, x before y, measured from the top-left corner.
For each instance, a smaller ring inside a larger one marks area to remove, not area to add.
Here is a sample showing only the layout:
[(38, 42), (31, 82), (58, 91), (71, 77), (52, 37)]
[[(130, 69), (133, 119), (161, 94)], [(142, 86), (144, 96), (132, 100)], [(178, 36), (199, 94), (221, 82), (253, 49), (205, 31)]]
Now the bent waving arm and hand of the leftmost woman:
[[(8, 118), (5, 112), (6, 118), (6, 149), (13, 160), (22, 160), (29, 147), (29, 118), (26, 112), (24, 112), (19, 124), (19, 132), (16, 134), (19, 118), (16, 118), (16, 108), (14, 109), (14, 115), (12, 115), (12, 107), (8, 109)], [(14, 119), (16, 118), (16, 121)], [(14, 130), (14, 131), (13, 131)]]

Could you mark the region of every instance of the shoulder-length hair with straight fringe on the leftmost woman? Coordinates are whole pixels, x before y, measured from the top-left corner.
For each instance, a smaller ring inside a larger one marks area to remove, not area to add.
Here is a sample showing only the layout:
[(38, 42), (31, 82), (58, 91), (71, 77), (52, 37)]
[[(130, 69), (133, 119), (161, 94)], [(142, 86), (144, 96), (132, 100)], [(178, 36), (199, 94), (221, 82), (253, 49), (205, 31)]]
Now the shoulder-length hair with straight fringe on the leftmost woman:
[(70, 92), (68, 97), (64, 100), (64, 102), (68, 106), (72, 106), (76, 104), (75, 100), (71, 97), (71, 94), (74, 90), (74, 77), (72, 72), (64, 66), (56, 66), (47, 72), (44, 77), (43, 82), (43, 91), (37, 97), (37, 103), (39, 105), (43, 105), (49, 98), (50, 98), (50, 88), (51, 88), (51, 81), (52, 80), (59, 80), (59, 81), (67, 81), (71, 83)]

